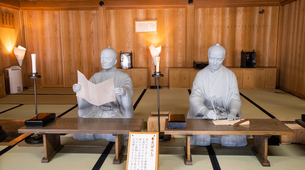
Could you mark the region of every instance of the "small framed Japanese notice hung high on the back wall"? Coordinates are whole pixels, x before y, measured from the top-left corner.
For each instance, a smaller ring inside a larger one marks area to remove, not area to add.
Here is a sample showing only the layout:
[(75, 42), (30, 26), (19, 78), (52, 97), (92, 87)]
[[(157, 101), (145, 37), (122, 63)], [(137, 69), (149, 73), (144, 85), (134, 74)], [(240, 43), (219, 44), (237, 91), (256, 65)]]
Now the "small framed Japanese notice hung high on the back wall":
[(157, 33), (157, 20), (135, 21), (135, 33)]

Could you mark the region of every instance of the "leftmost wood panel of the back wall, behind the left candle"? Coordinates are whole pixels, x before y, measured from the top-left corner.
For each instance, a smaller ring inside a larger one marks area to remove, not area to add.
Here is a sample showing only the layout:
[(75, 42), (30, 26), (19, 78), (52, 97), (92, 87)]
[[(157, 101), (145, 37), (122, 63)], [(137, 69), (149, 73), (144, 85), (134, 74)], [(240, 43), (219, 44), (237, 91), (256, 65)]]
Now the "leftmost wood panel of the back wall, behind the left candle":
[[(63, 68), (61, 59), (60, 19), (58, 11), (23, 12), (24, 32), (27, 47), (28, 74), (32, 72), (30, 54), (36, 54), (36, 71), (41, 78), (36, 84), (62, 86)], [(30, 80), (30, 86), (33, 86)]]

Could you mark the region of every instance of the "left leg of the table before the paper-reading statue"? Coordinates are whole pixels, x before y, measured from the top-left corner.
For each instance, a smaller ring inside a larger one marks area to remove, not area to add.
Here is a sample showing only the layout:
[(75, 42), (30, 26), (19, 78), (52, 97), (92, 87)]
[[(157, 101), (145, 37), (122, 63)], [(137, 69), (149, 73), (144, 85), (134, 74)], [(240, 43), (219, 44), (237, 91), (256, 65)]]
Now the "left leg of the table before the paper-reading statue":
[(63, 148), (63, 145), (60, 144), (60, 135), (52, 133), (43, 134), (43, 147), (45, 157), (42, 158), (41, 162), (48, 163)]

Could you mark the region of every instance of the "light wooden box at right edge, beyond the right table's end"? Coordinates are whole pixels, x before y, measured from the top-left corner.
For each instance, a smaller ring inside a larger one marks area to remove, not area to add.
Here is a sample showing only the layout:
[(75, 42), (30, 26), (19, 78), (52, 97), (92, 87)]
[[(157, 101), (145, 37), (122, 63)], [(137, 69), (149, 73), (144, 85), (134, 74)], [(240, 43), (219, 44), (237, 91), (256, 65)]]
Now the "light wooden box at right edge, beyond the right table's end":
[(291, 122), (282, 121), (282, 122), (285, 123), (285, 125), (288, 126), (290, 129), (292, 129), (295, 135), (278, 136), (281, 144), (290, 144), (290, 143), (305, 144), (305, 129), (302, 126), (292, 121)]

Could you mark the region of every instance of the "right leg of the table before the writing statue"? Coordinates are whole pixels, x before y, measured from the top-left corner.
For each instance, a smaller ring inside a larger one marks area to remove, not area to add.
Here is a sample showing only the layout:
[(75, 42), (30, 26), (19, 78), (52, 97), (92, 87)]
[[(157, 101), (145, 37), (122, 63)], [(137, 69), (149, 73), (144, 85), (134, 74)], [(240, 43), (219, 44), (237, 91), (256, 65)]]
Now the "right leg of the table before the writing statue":
[(254, 147), (251, 148), (257, 159), (263, 166), (270, 166), (270, 162), (267, 160), (268, 154), (268, 137), (271, 134), (266, 135), (254, 135)]

